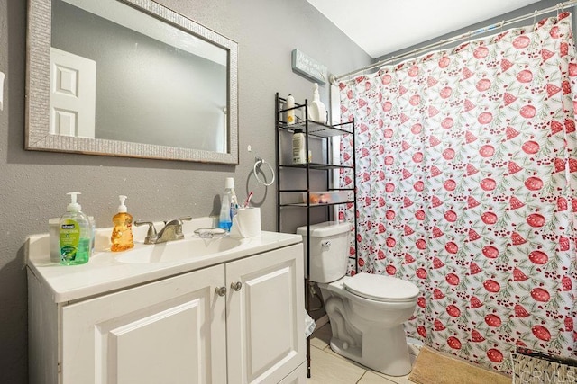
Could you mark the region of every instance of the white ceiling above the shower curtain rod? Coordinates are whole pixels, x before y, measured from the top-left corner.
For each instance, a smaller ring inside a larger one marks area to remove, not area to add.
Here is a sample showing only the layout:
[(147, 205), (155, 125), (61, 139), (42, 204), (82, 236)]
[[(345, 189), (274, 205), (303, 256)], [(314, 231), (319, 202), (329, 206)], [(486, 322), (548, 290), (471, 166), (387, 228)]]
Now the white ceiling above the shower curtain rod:
[(371, 58), (536, 3), (536, 0), (307, 1)]

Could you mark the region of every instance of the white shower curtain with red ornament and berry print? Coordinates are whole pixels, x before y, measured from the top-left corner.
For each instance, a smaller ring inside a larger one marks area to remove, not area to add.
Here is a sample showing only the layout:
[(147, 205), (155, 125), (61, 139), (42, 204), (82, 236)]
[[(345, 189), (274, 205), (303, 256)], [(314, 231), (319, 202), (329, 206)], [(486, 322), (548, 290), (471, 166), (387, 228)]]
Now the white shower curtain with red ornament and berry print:
[(359, 271), (420, 289), (409, 336), (506, 372), (516, 344), (576, 356), (576, 81), (562, 13), (340, 84), (340, 215)]

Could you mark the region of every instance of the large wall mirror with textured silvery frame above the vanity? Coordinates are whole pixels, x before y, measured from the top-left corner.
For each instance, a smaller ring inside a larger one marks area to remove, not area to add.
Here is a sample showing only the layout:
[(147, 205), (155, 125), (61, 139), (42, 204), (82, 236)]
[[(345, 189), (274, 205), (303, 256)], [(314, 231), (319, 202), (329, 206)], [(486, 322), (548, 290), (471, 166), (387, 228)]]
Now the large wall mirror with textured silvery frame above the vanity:
[(151, 0), (29, 0), (29, 150), (238, 164), (238, 45)]

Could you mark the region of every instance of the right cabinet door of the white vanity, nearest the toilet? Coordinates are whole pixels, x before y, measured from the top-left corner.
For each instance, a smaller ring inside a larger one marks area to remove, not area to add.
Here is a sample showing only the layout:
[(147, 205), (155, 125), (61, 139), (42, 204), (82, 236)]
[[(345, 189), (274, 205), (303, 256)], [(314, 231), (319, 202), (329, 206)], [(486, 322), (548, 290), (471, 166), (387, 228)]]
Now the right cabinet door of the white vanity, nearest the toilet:
[(306, 359), (302, 244), (226, 263), (226, 284), (228, 382), (278, 383)]

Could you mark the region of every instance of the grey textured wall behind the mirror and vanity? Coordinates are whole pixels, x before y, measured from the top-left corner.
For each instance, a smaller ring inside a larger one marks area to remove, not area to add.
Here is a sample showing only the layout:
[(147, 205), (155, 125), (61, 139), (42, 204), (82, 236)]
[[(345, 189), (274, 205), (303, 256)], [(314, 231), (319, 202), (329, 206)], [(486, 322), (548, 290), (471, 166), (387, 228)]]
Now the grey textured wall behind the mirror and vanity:
[[(28, 378), (24, 242), (63, 213), (66, 192), (82, 192), (83, 210), (107, 227), (118, 194), (128, 195), (135, 219), (215, 214), (224, 178), (234, 176), (241, 198), (254, 191), (263, 229), (274, 230), (274, 185), (261, 186), (251, 173), (255, 156), (274, 164), (274, 94), (312, 98), (312, 83), (291, 70), (291, 50), (302, 50), (335, 75), (371, 62), (305, 0), (160, 0), (239, 43), (240, 165), (25, 151), (26, 3), (0, 2), (0, 71), (6, 74), (0, 111), (0, 382), (11, 384)], [(320, 93), (328, 105), (328, 86)]]

